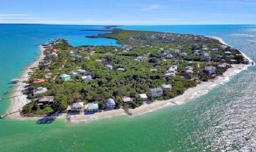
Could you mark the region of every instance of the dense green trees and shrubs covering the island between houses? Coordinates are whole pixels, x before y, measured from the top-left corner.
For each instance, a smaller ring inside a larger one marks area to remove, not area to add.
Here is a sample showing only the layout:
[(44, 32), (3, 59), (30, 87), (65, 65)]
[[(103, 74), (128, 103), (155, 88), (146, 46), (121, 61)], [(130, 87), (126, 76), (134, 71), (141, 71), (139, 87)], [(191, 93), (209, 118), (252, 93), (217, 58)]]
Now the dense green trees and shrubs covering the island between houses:
[[(207, 81), (226, 71), (226, 68), (217, 69), (212, 75), (204, 72), (205, 66), (216, 67), (221, 61), (231, 63), (230, 59), (236, 59), (236, 63), (243, 60), (242, 56), (236, 55), (241, 54), (238, 50), (230, 47), (220, 49), (221, 43), (200, 35), (115, 29), (112, 33), (90, 37), (116, 39), (123, 46), (72, 47), (63, 39), (44, 45), (47, 48), (44, 52), (46, 57), (41, 62), (40, 69), (32, 74), (30, 82), (32, 83), (34, 78), (46, 81), (29, 86), (27, 94), (33, 102), (23, 107), (24, 114), (64, 111), (68, 105), (75, 102), (96, 102), (99, 103), (99, 108), (103, 109), (108, 98), (113, 98), (116, 102), (115, 108), (119, 109), (124, 96), (133, 98), (132, 107), (135, 108), (143, 104), (142, 101), (137, 100), (138, 94), (147, 94), (151, 101), (156, 100), (150, 94), (150, 88), (171, 84), (172, 90), (168, 92), (163, 89), (163, 96), (160, 98), (170, 99), (183, 94), (185, 90), (196, 86), (200, 81)], [(209, 53), (211, 62), (204, 62), (203, 48), (208, 48), (210, 51), (205, 52)], [(217, 50), (212, 51), (214, 48)], [(58, 50), (58, 57), (48, 56), (53, 49)], [(195, 50), (201, 50), (200, 55), (195, 55)], [(70, 53), (71, 51), (74, 54)], [(234, 57), (226, 57), (224, 51), (232, 52)], [(181, 53), (187, 53), (187, 55), (182, 57)], [(173, 58), (166, 59), (168, 54), (172, 54)], [(220, 56), (217, 57), (217, 55)], [(84, 59), (87, 56), (90, 59)], [(102, 62), (96, 61), (100, 59)], [(106, 65), (112, 65), (112, 70), (108, 70)], [(176, 76), (165, 76), (172, 65), (178, 66)], [(191, 78), (186, 78), (187, 66), (190, 66), (194, 72)], [(124, 70), (118, 70), (119, 68)], [(71, 76), (69, 81), (61, 80), (61, 74), (70, 74), (78, 69), (86, 72)], [(92, 76), (92, 80), (87, 82), (81, 78), (86, 75)], [(33, 90), (38, 87), (47, 88), (48, 91), (33, 95)], [(44, 95), (55, 96), (54, 102), (37, 105), (36, 99)]]

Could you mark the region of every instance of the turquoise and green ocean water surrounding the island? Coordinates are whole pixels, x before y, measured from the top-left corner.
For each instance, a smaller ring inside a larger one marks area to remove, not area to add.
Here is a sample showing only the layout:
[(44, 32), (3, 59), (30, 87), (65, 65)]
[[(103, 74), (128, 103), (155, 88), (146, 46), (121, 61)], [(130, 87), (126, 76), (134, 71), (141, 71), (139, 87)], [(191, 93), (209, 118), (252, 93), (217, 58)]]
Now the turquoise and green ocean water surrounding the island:
[[(112, 39), (89, 39), (103, 32), (89, 25), (0, 24), (0, 96), (10, 79), (39, 52), (38, 45), (53, 38), (72, 45), (118, 45)], [(122, 29), (192, 33), (221, 37), (256, 60), (256, 25), (120, 26)], [(232, 76), (222, 86), (189, 102), (133, 117), (69, 124), (55, 120), (0, 120), (1, 152), (210, 152), (256, 151), (256, 67)], [(0, 102), (0, 114), (9, 105)]]

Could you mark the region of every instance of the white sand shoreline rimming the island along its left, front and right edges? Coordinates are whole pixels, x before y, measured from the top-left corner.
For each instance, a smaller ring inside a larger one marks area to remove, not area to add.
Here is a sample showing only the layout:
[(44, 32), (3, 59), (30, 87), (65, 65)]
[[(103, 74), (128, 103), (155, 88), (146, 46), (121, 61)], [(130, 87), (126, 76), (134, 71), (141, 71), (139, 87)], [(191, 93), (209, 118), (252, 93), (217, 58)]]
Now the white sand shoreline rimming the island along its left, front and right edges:
[[(207, 36), (207, 37), (210, 37), (210, 36)], [(210, 37), (210, 38), (217, 39), (222, 44), (227, 45), (219, 37)], [(38, 65), (38, 61), (41, 58), (44, 58), (42, 46), (40, 48), (41, 48), (41, 55), (40, 55), (40, 58), (32, 64), (34, 66)], [(151, 112), (151, 111), (162, 109), (162, 108), (167, 107), (167, 106), (183, 104), (183, 103), (185, 103), (185, 102), (187, 102), (191, 99), (194, 99), (195, 97), (199, 97), (203, 94), (207, 94), (210, 90), (212, 90), (216, 86), (219, 86), (219, 85), (224, 84), (225, 82), (228, 82), (230, 80), (230, 77), (238, 74), (242, 70), (246, 70), (248, 66), (250, 66), (250, 65), (232, 64), (232, 68), (229, 68), (226, 72), (223, 73), (223, 76), (218, 76), (215, 80), (210, 80), (208, 82), (202, 82), (201, 84), (198, 84), (194, 88), (189, 88), (188, 90), (186, 90), (184, 92), (184, 94), (179, 95), (177, 97), (174, 97), (172, 99), (162, 100), (162, 101), (155, 101), (151, 104), (146, 104), (145, 103), (144, 105), (142, 105), (142, 106), (140, 106), (136, 109), (130, 109), (130, 112), (132, 113), (132, 115), (140, 115), (140, 114), (143, 114), (143, 113), (148, 113), (148, 112)], [(26, 70), (22, 77), (28, 76), (28, 72), (30, 72), (30, 71)], [(22, 86), (17, 87), (16, 90), (20, 90), (21, 88), (23, 88), (23, 87)], [(12, 96), (13, 95), (21, 95), (21, 96), (12, 98), (11, 103), (10, 103), (10, 107), (7, 111), (8, 113), (18, 111), (19, 109), (22, 108), (23, 105), (30, 102), (30, 101), (28, 101), (28, 99), (26, 99), (26, 95), (22, 95), (22, 92), (16, 92), (16, 93), (12, 94)], [(110, 118), (110, 117), (117, 116), (117, 115), (126, 115), (126, 114), (124, 113), (123, 109), (98, 112), (98, 113), (94, 113), (92, 115), (84, 115), (84, 113), (82, 113), (80, 115), (70, 115), (70, 120), (71, 120), (70, 122), (71, 123), (78, 123), (78, 122), (92, 121), (92, 120)], [(66, 116), (67, 116), (66, 113), (62, 113), (57, 118), (65, 119)], [(26, 120), (27, 119), (39, 119), (40, 118), (40, 117), (22, 117), (20, 115), (20, 113), (13, 113), (13, 114), (9, 115), (8, 117), (12, 118), (12, 119), (20, 119), (20, 120), (21, 119), (26, 119)]]

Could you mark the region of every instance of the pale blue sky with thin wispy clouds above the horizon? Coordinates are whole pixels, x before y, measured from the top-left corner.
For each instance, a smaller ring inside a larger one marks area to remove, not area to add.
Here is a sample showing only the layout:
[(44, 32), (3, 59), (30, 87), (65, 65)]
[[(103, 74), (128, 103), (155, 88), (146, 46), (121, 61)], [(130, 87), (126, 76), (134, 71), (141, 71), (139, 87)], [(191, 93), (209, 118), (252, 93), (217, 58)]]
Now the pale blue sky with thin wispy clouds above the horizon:
[(0, 23), (256, 24), (256, 0), (0, 0)]

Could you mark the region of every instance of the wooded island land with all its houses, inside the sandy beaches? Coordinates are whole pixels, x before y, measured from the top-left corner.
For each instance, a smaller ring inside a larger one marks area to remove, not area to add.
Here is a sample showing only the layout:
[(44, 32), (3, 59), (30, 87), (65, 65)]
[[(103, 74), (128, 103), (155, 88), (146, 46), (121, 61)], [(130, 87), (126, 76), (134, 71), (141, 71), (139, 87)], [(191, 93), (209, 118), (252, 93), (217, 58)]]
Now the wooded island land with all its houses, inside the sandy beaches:
[(249, 64), (237, 49), (202, 35), (115, 27), (88, 37), (116, 39), (122, 47), (74, 47), (64, 39), (42, 45), (38, 68), (23, 82), (29, 101), (21, 115), (77, 113), (82, 119), (116, 109), (132, 115)]

